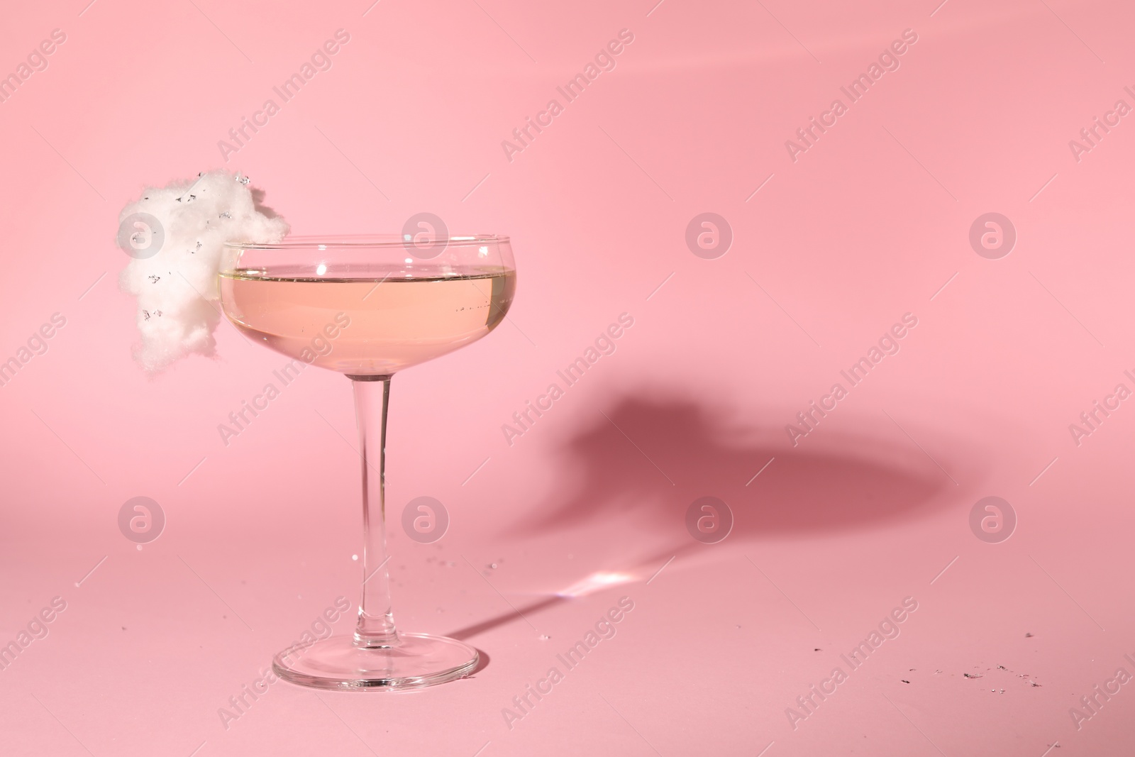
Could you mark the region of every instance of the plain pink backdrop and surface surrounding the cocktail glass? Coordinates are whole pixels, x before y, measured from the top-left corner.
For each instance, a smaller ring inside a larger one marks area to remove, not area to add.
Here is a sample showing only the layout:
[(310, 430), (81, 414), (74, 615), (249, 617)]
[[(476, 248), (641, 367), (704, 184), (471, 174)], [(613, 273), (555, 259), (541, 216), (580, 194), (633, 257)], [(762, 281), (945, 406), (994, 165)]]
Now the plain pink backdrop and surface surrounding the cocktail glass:
[[(0, 359), (67, 325), (0, 387), (0, 644), (67, 608), (0, 671), (2, 751), (1130, 754), (1133, 687), (1079, 729), (1069, 708), (1135, 673), (1135, 409), (1078, 446), (1069, 424), (1135, 388), (1135, 125), (1079, 161), (1068, 142), (1135, 106), (1135, 9), (935, 3), (9, 3), (0, 70), (67, 40), (0, 103)], [(225, 163), (217, 141), (338, 28), (333, 68)], [(501, 141), (622, 28), (616, 68), (510, 162)], [(793, 162), (785, 140), (906, 28), (900, 68)], [(360, 540), (342, 377), (305, 371), (225, 447), (279, 355), (222, 325), (216, 360), (151, 380), (131, 359), (117, 212), (215, 167), (297, 233), (429, 211), (512, 235), (511, 322), (393, 385), (396, 617), (484, 650), (473, 678), (281, 682), (222, 726), (356, 599)], [(730, 224), (724, 256), (687, 247), (701, 212)], [(1000, 260), (968, 242), (986, 212), (1017, 230)], [(617, 351), (510, 447), (502, 423), (622, 312)], [(793, 447), (784, 426), (907, 312), (901, 351)], [(999, 544), (968, 520), (991, 495), (1018, 519)], [(117, 525), (135, 496), (168, 519), (141, 550)], [(436, 544), (397, 524), (418, 496), (449, 512)], [(686, 530), (700, 496), (732, 508), (720, 544)], [(556, 599), (596, 574), (619, 583)], [(502, 708), (621, 596), (617, 634), (510, 729)], [(793, 729), (785, 708), (908, 596), (901, 634)]]

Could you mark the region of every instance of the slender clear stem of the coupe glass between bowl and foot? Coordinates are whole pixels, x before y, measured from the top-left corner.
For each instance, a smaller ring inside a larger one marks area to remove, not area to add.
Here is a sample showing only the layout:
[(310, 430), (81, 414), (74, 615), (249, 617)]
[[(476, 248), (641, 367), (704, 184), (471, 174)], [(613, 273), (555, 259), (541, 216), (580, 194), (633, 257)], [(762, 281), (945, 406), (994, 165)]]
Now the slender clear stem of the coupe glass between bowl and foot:
[(398, 644), (390, 612), (390, 573), (386, 554), (386, 407), (389, 376), (348, 376), (354, 388), (359, 447), (362, 456), (362, 599), (359, 602), (356, 647)]

